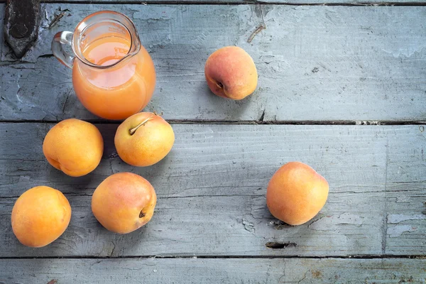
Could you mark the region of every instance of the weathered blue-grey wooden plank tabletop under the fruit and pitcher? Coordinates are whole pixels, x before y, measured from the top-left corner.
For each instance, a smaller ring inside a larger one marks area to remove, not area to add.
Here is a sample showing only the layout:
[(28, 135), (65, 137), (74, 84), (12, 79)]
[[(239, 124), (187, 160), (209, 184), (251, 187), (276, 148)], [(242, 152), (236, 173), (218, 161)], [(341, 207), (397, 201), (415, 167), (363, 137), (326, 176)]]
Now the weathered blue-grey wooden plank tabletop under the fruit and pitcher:
[[(22, 60), (0, 33), (0, 283), (425, 283), (426, 6), (336, 1), (45, 1)], [(171, 153), (148, 168), (120, 160), (119, 122), (86, 111), (51, 54), (55, 33), (104, 9), (136, 23), (158, 72), (146, 111), (175, 130)], [(258, 68), (258, 89), (240, 102), (204, 80), (205, 60), (224, 45), (247, 50)], [(42, 152), (48, 129), (70, 117), (104, 136), (101, 164), (82, 178)], [(330, 185), (302, 226), (266, 207), (268, 180), (291, 160)], [(158, 203), (149, 224), (119, 235), (90, 202), (123, 171), (147, 178)], [(41, 249), (19, 244), (10, 222), (16, 198), (36, 185), (64, 192), (73, 210)]]

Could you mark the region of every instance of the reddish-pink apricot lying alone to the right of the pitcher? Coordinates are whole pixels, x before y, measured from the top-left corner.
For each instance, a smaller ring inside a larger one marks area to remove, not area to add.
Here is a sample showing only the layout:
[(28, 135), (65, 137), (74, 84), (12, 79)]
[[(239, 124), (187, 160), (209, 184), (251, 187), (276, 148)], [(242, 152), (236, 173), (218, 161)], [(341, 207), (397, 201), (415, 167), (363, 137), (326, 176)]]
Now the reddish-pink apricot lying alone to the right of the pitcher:
[(244, 99), (257, 86), (257, 70), (253, 59), (242, 48), (219, 48), (204, 67), (207, 84), (214, 94), (229, 99)]

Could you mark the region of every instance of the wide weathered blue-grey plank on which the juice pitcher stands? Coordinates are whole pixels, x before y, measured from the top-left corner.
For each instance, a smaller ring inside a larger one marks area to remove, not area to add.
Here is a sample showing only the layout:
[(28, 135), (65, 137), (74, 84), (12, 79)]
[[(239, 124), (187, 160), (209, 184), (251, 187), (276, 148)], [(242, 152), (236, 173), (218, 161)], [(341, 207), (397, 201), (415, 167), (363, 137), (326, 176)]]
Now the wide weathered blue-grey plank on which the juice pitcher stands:
[[(43, 8), (38, 43), (23, 62), (9, 62), (13, 58), (3, 46), (0, 120), (96, 119), (77, 101), (70, 70), (49, 57), (50, 40), (58, 31), (72, 30), (87, 14), (111, 6), (44, 4)], [(60, 9), (70, 11), (49, 30)], [(426, 119), (426, 7), (120, 5), (114, 9), (131, 16), (151, 52), (158, 85), (146, 109), (163, 111), (166, 119)], [(247, 43), (261, 24), (266, 30)], [(258, 90), (241, 102), (214, 96), (204, 80), (205, 60), (224, 45), (246, 49), (258, 67)]]

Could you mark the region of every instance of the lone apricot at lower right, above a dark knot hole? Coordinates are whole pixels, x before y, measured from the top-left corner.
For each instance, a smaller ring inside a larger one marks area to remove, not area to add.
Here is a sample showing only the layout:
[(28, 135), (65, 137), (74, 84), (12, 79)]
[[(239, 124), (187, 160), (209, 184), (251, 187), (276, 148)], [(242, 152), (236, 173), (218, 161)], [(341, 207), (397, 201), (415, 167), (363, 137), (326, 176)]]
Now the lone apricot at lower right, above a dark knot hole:
[(327, 201), (327, 180), (309, 165), (290, 162), (271, 178), (266, 204), (273, 216), (290, 225), (308, 222)]

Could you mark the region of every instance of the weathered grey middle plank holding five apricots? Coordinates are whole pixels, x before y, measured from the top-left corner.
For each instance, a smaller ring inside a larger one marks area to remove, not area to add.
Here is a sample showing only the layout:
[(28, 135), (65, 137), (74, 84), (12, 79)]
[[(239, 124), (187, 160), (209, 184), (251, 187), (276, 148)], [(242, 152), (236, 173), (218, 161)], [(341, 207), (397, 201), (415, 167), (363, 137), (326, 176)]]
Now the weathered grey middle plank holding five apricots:
[[(116, 156), (116, 125), (99, 124), (104, 159), (93, 173), (70, 178), (44, 160), (41, 145), (52, 125), (0, 124), (0, 257), (426, 254), (424, 220), (412, 220), (416, 230), (398, 236), (386, 231), (393, 226), (388, 214), (400, 214), (401, 206), (405, 215), (424, 216), (421, 126), (174, 124), (175, 146), (165, 160), (135, 168)], [(290, 160), (312, 165), (330, 184), (326, 206), (302, 226), (283, 226), (266, 208), (268, 180)], [(104, 178), (123, 171), (147, 178), (158, 204), (147, 226), (119, 236), (97, 223), (90, 199)], [(10, 226), (16, 197), (35, 185), (62, 190), (73, 209), (65, 234), (42, 249), (21, 246)], [(398, 203), (404, 198), (410, 206)], [(269, 242), (297, 246), (268, 249)]]

